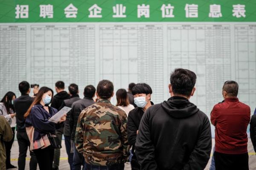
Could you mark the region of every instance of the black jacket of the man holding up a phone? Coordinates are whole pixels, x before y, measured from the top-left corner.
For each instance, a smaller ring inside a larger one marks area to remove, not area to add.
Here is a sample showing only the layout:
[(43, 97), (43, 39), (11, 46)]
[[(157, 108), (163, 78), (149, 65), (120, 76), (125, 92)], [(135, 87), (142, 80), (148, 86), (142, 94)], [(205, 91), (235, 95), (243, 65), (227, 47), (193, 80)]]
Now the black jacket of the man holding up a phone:
[(29, 109), (34, 99), (35, 98), (30, 97), (28, 94), (22, 94), (20, 97), (13, 101), (13, 105), (16, 111), (16, 123), (18, 132), (26, 131), (24, 114)]

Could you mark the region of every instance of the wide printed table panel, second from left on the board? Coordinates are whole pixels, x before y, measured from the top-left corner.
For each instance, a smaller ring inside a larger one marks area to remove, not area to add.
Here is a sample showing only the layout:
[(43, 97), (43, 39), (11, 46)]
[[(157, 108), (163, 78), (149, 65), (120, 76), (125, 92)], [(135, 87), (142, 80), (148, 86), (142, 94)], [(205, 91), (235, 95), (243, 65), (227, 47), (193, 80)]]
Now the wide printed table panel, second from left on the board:
[(95, 84), (95, 27), (31, 26), (31, 83), (54, 88), (62, 80), (82, 89)]

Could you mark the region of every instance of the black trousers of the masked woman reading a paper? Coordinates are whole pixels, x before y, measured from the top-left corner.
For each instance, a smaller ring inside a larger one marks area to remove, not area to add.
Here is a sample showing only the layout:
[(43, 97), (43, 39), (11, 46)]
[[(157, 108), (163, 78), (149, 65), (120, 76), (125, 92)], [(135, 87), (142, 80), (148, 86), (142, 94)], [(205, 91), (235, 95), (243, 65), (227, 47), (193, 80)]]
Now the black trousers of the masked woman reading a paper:
[(33, 150), (40, 170), (52, 170), (54, 149), (48, 146), (44, 149)]

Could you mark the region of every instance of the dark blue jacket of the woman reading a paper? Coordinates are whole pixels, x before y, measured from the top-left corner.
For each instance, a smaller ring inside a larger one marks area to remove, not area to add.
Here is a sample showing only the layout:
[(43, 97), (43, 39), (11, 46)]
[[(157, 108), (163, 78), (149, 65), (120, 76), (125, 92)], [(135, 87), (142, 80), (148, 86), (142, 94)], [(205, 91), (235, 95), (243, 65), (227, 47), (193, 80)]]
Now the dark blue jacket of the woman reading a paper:
[(49, 113), (44, 109), (44, 106), (41, 104), (34, 105), (30, 111), (29, 116), (26, 118), (26, 127), (33, 126), (35, 127), (34, 140), (39, 140), (41, 136), (46, 135), (47, 133), (54, 133), (56, 130), (56, 123), (50, 122), (50, 119), (58, 110), (52, 107), (49, 107)]

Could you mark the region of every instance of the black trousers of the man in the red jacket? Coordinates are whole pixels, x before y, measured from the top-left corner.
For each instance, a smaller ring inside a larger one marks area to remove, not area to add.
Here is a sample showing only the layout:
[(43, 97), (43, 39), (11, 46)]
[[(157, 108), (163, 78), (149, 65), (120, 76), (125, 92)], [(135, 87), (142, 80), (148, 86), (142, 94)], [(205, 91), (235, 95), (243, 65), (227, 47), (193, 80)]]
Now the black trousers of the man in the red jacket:
[(216, 170), (249, 170), (248, 153), (225, 154), (214, 152)]

